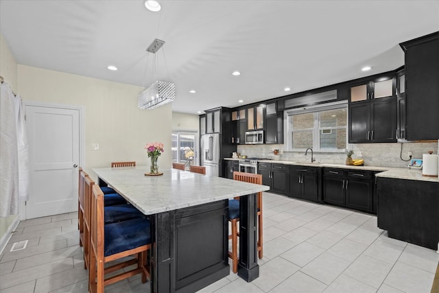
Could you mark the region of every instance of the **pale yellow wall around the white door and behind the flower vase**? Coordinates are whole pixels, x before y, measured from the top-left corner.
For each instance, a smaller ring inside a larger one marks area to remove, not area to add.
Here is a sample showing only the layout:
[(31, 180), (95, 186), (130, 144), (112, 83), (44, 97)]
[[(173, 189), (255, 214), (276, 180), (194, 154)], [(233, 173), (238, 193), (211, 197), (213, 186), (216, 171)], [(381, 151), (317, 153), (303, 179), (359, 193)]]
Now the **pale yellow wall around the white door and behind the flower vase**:
[[(67, 104), (84, 108), (84, 169), (109, 167), (112, 161), (149, 165), (146, 143), (165, 144), (159, 165), (171, 167), (171, 104), (139, 110), (140, 86), (80, 75), (18, 66), (20, 93), (25, 101)], [(91, 150), (99, 143), (99, 150)]]

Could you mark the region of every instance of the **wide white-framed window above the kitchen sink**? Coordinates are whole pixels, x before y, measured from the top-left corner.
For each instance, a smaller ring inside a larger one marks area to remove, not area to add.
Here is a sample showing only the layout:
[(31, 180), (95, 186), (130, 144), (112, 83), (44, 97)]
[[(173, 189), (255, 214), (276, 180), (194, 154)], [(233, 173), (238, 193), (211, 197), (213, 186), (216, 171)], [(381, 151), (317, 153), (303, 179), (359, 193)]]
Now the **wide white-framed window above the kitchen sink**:
[(287, 110), (287, 150), (344, 151), (347, 142), (346, 102)]

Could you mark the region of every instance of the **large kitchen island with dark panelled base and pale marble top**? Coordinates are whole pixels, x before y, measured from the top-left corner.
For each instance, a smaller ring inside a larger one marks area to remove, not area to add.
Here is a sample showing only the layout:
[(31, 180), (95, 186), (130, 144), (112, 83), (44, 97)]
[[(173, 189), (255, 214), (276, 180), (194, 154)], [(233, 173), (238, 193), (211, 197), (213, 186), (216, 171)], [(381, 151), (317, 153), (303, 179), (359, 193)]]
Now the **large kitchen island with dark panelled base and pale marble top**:
[(146, 166), (93, 169), (145, 215), (152, 231), (151, 292), (195, 292), (229, 274), (228, 199), (240, 197), (238, 275), (259, 277), (256, 193), (265, 185)]

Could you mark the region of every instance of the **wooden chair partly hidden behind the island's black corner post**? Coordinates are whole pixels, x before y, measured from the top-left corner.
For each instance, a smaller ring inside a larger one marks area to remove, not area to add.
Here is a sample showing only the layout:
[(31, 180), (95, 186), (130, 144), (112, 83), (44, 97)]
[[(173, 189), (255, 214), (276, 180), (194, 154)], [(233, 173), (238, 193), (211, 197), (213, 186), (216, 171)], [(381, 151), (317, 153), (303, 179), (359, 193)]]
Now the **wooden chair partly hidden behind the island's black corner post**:
[[(244, 172), (233, 172), (233, 180), (244, 181), (248, 183), (260, 184), (262, 185), (262, 175)], [(262, 245), (262, 192), (257, 194), (257, 218), (258, 218), (258, 240), (257, 240), (257, 251), (258, 257), (261, 259), (263, 257), (263, 245)], [(230, 221), (231, 233), (228, 235), (228, 239), (232, 240), (232, 251), (228, 252), (228, 257), (232, 259), (232, 270), (233, 272), (238, 271), (238, 222), (239, 222), (239, 198), (233, 200), (228, 200), (228, 220)]]

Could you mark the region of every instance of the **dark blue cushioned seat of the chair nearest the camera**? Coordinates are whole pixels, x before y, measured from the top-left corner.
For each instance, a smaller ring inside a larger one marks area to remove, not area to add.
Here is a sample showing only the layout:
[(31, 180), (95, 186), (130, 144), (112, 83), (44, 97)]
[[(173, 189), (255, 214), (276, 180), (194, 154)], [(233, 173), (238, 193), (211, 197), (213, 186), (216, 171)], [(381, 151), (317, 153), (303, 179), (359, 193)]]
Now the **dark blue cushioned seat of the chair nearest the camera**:
[(151, 243), (150, 220), (145, 218), (108, 224), (104, 229), (106, 257)]

